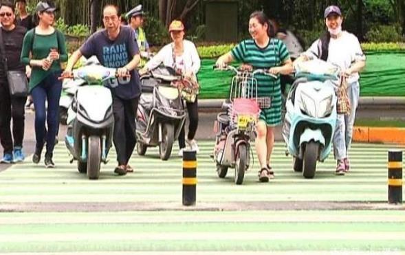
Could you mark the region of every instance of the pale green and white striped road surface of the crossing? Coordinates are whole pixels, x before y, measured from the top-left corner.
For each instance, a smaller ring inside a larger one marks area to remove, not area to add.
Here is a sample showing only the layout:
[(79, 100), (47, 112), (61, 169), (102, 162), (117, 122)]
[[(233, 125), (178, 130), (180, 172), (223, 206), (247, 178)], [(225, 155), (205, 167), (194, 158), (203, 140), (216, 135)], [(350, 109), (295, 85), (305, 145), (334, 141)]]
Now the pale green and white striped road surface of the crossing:
[(303, 179), (277, 143), (276, 179), (258, 182), (255, 157), (242, 186), (233, 184), (232, 169), (217, 177), (212, 146), (199, 142), (192, 208), (181, 204), (177, 150), (167, 162), (155, 148), (134, 155), (135, 172), (123, 177), (113, 174), (112, 152), (97, 181), (69, 164), (63, 144), (54, 169), (28, 157), (0, 172), (0, 254), (405, 252), (405, 208), (386, 204), (387, 151), (404, 146), (353, 144), (349, 174), (334, 175), (330, 157), (315, 179)]

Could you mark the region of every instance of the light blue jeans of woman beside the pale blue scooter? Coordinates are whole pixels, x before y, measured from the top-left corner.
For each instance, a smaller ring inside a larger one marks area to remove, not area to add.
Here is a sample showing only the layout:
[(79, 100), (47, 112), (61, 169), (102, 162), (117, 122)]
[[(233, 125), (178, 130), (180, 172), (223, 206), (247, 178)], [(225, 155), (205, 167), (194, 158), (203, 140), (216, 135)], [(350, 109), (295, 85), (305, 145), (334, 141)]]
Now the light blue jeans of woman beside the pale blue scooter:
[(349, 156), (351, 138), (353, 137), (353, 126), (355, 121), (355, 111), (360, 98), (359, 82), (350, 83), (347, 87), (351, 110), (349, 115), (338, 114), (336, 130), (333, 135), (333, 153), (335, 159), (344, 159)]

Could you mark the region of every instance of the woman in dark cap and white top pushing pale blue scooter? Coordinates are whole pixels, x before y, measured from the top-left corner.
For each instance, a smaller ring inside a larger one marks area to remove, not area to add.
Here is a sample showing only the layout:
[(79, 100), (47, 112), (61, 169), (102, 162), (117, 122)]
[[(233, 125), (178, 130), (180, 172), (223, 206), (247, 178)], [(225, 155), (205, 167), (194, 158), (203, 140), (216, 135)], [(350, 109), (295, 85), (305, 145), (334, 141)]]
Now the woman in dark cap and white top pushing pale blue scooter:
[(342, 69), (342, 76), (347, 78), (347, 93), (351, 111), (348, 115), (338, 114), (336, 131), (333, 136), (333, 149), (337, 159), (336, 174), (344, 175), (349, 170), (348, 151), (353, 135), (355, 110), (360, 97), (359, 71), (366, 65), (358, 38), (355, 35), (342, 31), (342, 12), (336, 5), (325, 9), (325, 24), (328, 32), (316, 40), (311, 47), (296, 61), (321, 58), (327, 62), (338, 65)]

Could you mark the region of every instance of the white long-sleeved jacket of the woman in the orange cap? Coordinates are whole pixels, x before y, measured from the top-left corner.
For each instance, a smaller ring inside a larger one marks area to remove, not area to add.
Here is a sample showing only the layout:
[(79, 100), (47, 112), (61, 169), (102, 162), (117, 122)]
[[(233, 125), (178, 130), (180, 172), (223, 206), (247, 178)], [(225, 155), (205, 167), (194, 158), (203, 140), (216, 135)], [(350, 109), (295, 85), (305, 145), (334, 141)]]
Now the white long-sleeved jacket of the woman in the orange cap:
[[(193, 74), (197, 74), (201, 67), (201, 59), (198, 56), (197, 48), (194, 43), (184, 40), (184, 52), (182, 56), (175, 56), (175, 60), (173, 58), (173, 46), (173, 43), (169, 43), (162, 47), (162, 49), (146, 63), (146, 68), (152, 70), (163, 63), (165, 66), (181, 69), (183, 74), (185, 71), (193, 71)], [(175, 61), (176, 65), (174, 65)]]

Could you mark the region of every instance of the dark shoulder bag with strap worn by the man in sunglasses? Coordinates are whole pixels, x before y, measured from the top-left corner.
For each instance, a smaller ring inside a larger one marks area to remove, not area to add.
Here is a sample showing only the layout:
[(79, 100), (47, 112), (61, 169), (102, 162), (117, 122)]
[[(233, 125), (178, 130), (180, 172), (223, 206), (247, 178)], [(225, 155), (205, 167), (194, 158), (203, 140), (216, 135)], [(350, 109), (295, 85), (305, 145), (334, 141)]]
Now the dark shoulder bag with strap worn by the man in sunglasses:
[(10, 96), (25, 97), (30, 92), (28, 79), (24, 71), (8, 71), (6, 50), (4, 49), (3, 31), (0, 29), (0, 55), (4, 66), (4, 72), (7, 76)]

